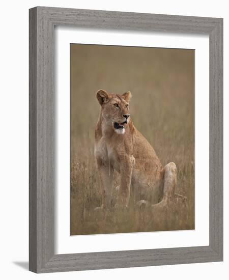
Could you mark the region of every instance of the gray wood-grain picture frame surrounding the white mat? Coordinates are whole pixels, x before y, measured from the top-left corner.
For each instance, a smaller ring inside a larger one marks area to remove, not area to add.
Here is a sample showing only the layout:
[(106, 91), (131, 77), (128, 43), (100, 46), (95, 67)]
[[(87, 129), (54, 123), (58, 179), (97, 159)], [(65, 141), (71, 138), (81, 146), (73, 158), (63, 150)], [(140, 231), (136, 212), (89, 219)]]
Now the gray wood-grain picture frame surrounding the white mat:
[[(54, 255), (54, 26), (208, 34), (209, 246)], [(223, 260), (223, 19), (36, 7), (30, 9), (30, 265), (56, 272)]]

